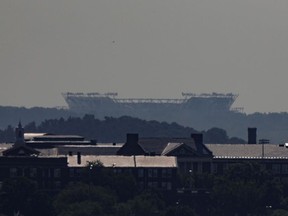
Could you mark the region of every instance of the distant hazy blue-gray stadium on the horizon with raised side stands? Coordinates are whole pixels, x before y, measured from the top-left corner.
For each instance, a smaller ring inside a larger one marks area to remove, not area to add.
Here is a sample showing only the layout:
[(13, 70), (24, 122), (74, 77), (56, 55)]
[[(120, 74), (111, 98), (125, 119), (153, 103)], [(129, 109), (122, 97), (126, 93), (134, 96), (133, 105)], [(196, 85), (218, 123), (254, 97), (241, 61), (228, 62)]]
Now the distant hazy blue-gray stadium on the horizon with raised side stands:
[(241, 112), (232, 109), (236, 94), (182, 93), (180, 99), (118, 98), (117, 93), (62, 93), (69, 110), (79, 114), (132, 116), (146, 120), (181, 122), (192, 115)]

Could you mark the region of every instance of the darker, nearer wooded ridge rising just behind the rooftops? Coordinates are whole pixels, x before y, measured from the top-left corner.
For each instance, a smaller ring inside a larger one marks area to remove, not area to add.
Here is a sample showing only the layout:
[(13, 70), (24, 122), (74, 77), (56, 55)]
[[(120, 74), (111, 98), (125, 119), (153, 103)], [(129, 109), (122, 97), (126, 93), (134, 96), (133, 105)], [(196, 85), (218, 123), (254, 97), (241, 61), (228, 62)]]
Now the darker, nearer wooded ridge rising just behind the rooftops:
[[(127, 133), (138, 133), (140, 137), (190, 137), (191, 133), (203, 133), (205, 143), (245, 143), (237, 137), (229, 137), (225, 130), (211, 128), (196, 131), (177, 123), (146, 121), (122, 116), (96, 119), (93, 115), (68, 117), (67, 119), (49, 119), (37, 125), (35, 122), (24, 126), (27, 133), (52, 133), (62, 135), (80, 135), (97, 142), (125, 142)], [(13, 142), (14, 129), (8, 126), (0, 130), (0, 142)]]

